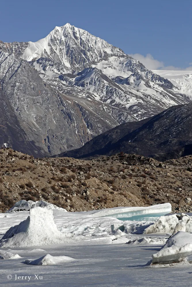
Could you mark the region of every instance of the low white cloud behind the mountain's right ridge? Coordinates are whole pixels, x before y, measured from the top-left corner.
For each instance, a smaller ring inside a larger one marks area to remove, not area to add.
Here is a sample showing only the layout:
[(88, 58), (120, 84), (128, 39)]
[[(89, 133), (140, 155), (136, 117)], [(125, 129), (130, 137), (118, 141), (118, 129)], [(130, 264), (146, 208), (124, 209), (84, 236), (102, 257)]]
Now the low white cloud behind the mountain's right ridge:
[[(192, 66), (185, 69), (174, 67), (174, 66), (165, 66), (162, 61), (155, 60), (151, 54), (143, 56), (141, 54), (129, 54), (132, 58), (141, 62), (149, 70), (192, 70)], [(189, 63), (192, 65), (192, 63)]]

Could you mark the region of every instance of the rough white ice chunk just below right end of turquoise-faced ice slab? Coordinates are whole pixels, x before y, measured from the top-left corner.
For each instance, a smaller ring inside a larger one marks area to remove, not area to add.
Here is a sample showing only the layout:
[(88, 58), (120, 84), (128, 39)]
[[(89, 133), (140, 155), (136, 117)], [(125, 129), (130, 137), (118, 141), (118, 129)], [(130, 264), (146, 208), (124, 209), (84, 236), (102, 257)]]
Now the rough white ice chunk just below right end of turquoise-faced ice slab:
[(168, 216), (160, 216), (157, 221), (145, 228), (143, 234), (149, 233), (172, 233), (179, 222), (176, 214)]

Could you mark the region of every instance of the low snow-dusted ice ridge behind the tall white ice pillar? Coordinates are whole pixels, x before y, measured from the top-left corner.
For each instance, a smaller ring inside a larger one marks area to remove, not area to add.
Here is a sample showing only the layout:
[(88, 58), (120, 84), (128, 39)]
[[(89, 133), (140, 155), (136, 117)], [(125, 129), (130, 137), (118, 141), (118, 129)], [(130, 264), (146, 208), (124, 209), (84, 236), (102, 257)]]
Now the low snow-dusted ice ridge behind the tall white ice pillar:
[(49, 203), (47, 201), (43, 201), (43, 200), (40, 200), (40, 201), (28, 200), (28, 201), (26, 201), (26, 200), (22, 199), (20, 201), (17, 201), (15, 203), (15, 205), (12, 208), (10, 208), (7, 212), (29, 211), (31, 208), (34, 208), (37, 206), (46, 207), (47, 209), (56, 209), (56, 210), (66, 211), (66, 209), (58, 207), (58, 206), (56, 206), (52, 203)]

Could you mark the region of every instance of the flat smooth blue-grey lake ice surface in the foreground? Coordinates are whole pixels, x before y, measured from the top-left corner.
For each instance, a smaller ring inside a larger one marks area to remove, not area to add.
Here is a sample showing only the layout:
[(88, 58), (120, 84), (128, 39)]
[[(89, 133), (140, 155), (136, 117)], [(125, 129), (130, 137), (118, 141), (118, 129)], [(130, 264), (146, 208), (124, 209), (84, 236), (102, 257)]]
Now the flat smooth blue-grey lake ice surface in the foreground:
[[(33, 266), (21, 260), (1, 260), (1, 286), (49, 286), (49, 287), (154, 287), (191, 286), (192, 265), (173, 268), (147, 268), (144, 265), (160, 246), (77, 245), (42, 247), (51, 255), (65, 255), (77, 259), (57, 266)], [(23, 249), (22, 249), (23, 250)], [(23, 254), (24, 252), (19, 252)], [(25, 256), (28, 258), (29, 255)], [(37, 255), (30, 256), (37, 258)], [(7, 275), (12, 275), (11, 280)], [(31, 276), (30, 281), (15, 280), (17, 276)], [(43, 276), (34, 280), (34, 274)]]

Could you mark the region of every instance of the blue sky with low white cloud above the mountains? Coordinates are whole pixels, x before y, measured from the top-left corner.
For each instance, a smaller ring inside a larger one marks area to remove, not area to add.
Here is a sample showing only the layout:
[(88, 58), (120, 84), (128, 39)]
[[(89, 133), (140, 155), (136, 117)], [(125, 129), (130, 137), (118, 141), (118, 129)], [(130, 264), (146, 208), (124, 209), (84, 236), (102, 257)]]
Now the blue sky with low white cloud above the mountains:
[(192, 1), (9, 0), (0, 9), (3, 42), (37, 41), (68, 22), (150, 69), (192, 66)]

